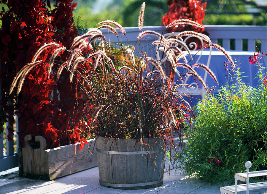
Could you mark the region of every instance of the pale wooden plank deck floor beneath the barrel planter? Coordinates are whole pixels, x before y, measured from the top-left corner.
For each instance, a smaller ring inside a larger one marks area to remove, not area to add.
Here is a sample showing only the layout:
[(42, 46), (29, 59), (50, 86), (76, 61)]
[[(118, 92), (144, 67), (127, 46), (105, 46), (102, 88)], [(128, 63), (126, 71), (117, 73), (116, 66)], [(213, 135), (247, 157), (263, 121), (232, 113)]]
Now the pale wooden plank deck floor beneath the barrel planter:
[[(166, 164), (168, 168), (169, 164)], [(98, 167), (71, 174), (52, 181), (18, 177), (18, 172), (0, 176), (0, 194), (216, 194), (221, 185), (188, 178), (174, 170), (164, 173), (163, 185), (152, 189), (120, 190), (99, 185)], [(244, 194), (245, 192), (240, 192)], [(249, 191), (250, 194), (267, 194), (267, 189)]]

